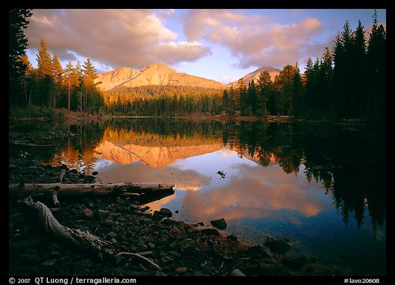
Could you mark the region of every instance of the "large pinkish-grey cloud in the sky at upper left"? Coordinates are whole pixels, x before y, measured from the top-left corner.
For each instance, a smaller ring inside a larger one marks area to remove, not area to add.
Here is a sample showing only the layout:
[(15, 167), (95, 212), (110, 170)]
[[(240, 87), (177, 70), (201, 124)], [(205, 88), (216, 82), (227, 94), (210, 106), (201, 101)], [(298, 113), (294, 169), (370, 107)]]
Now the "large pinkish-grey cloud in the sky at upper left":
[(165, 27), (173, 10), (33, 10), (25, 34), (29, 49), (38, 49), (44, 38), (51, 53), (60, 60), (78, 56), (103, 66), (130, 66), (194, 61), (211, 53), (200, 42), (177, 41), (178, 35)]

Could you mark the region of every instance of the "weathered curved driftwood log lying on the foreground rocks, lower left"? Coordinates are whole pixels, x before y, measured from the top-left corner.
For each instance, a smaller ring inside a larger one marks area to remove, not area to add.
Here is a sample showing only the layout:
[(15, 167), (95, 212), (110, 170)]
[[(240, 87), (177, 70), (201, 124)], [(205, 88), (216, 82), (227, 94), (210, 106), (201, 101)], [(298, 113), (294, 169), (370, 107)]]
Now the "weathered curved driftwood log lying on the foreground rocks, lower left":
[(145, 262), (152, 265), (152, 267), (155, 269), (159, 271), (161, 270), (158, 264), (149, 258), (146, 258), (145, 256), (130, 252), (116, 253), (115, 249), (112, 248), (112, 245), (106, 240), (102, 240), (98, 236), (95, 236), (89, 232), (82, 232), (80, 230), (74, 230), (61, 225), (58, 220), (55, 219), (51, 210), (49, 210), (49, 208), (40, 201), (33, 201), (31, 198), (26, 198), (23, 199), (21, 203), (36, 212), (38, 219), (41, 225), (43, 225), (47, 234), (51, 234), (53, 237), (69, 243), (69, 245), (72, 245), (73, 247), (89, 251), (97, 256), (100, 260), (103, 260), (104, 258), (116, 258), (116, 260), (118, 260), (120, 256), (128, 255), (140, 258), (141, 260), (144, 260)]

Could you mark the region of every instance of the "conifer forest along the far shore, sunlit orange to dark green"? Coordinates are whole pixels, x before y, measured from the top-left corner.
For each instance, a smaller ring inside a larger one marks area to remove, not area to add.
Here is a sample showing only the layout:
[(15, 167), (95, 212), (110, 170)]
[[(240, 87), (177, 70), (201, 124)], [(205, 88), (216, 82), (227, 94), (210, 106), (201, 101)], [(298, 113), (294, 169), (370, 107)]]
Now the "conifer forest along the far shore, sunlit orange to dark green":
[(290, 115), (298, 118), (385, 120), (386, 33), (374, 11), (366, 38), (361, 21), (352, 31), (348, 21), (321, 58), (307, 60), (304, 73), (298, 63), (287, 64), (272, 80), (267, 71), (235, 88), (215, 90), (188, 86), (97, 88), (96, 69), (89, 58), (81, 66), (69, 62), (63, 69), (44, 39), (34, 69), (25, 53), (23, 34), (30, 10), (11, 9), (10, 107), (43, 106), (77, 112), (172, 116), (182, 114)]

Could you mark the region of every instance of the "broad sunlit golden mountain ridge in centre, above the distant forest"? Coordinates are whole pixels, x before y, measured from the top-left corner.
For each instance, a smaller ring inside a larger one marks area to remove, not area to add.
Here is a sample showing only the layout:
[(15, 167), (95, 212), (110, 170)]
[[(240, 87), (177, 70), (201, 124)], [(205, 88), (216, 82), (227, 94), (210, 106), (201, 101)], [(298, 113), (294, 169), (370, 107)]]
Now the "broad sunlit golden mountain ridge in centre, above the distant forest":
[(225, 85), (215, 80), (177, 73), (169, 66), (163, 64), (152, 64), (136, 71), (128, 67), (121, 67), (113, 71), (99, 74), (95, 82), (99, 88), (110, 90), (118, 87), (139, 87), (148, 85), (175, 85), (175, 86), (197, 86), (205, 88), (225, 88)]

